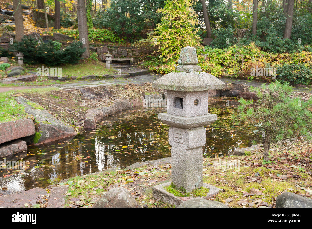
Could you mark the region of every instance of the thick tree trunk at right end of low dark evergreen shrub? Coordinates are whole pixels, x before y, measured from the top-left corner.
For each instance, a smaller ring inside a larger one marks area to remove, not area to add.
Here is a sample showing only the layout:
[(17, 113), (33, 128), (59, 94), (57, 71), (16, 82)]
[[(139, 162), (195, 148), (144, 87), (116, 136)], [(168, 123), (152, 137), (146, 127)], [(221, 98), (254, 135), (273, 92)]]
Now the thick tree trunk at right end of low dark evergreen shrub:
[(86, 48), (85, 52), (81, 56), (83, 58), (89, 58), (90, 57), (89, 36), (87, 26), (87, 13), (85, 10), (85, 0), (77, 1), (77, 17), (78, 17), (79, 40), (82, 42), (82, 47)]

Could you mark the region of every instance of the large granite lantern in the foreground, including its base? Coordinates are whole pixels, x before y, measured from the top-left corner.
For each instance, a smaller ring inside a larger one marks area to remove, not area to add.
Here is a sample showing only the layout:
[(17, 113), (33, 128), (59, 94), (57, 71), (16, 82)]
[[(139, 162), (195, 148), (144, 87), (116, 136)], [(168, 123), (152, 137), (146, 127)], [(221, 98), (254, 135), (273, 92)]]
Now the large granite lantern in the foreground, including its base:
[[(158, 119), (170, 126), (172, 183), (187, 192), (204, 186), (210, 189), (210, 194), (216, 194), (219, 188), (202, 182), (202, 146), (206, 145), (204, 126), (217, 120), (217, 115), (208, 113), (208, 90), (224, 89), (225, 84), (201, 72), (197, 63), (196, 49), (182, 48), (175, 68), (179, 72), (154, 81), (153, 88), (167, 90), (167, 113), (158, 114)], [(153, 197), (178, 205), (179, 198), (168, 201), (168, 196), (173, 198), (173, 195), (166, 193), (163, 187), (169, 184), (154, 186)]]

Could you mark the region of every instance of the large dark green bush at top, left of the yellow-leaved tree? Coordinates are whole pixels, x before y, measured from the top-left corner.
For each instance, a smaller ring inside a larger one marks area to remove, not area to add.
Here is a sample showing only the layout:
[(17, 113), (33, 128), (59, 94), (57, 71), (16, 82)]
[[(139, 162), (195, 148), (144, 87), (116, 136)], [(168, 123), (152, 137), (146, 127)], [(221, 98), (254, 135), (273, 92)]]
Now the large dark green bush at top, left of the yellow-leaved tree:
[(156, 10), (163, 5), (163, 0), (112, 0), (108, 9), (97, 12), (94, 25), (110, 28), (130, 40), (138, 39), (144, 27), (154, 28), (160, 21), (160, 14)]

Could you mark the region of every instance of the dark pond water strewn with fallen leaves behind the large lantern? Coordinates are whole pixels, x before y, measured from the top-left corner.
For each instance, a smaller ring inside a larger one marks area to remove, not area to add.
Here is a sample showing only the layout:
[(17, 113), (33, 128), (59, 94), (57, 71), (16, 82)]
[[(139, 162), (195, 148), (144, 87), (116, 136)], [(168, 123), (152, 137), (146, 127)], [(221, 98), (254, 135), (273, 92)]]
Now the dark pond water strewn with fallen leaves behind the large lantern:
[[(233, 125), (235, 98), (209, 98), (208, 112), (218, 120), (206, 128), (204, 157), (228, 155), (236, 148), (251, 145), (249, 126)], [(25, 171), (0, 170), (0, 194), (46, 188), (62, 179), (95, 173), (108, 168), (124, 168), (135, 162), (170, 156), (168, 126), (157, 119), (163, 108), (133, 108), (119, 112), (72, 140), (30, 146), (28, 152), (0, 160), (22, 160)]]

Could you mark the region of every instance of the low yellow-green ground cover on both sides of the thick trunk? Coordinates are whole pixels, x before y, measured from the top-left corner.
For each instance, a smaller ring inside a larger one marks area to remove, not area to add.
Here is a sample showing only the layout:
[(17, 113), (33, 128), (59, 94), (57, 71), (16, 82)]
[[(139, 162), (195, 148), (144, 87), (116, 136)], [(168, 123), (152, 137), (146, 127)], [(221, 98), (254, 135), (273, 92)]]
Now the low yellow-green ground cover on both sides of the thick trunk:
[[(59, 30), (59, 32), (71, 36), (75, 39), (79, 39), (78, 30)], [(89, 41), (111, 41), (111, 42), (122, 42), (119, 36), (117, 36), (113, 31), (107, 29), (88, 29)]]

